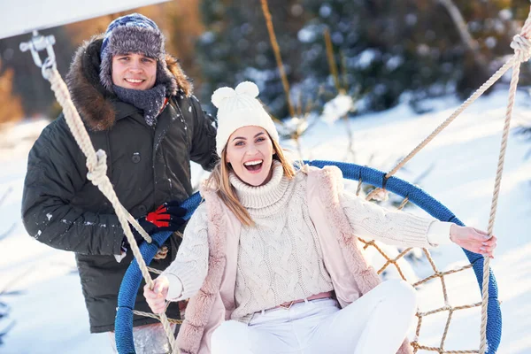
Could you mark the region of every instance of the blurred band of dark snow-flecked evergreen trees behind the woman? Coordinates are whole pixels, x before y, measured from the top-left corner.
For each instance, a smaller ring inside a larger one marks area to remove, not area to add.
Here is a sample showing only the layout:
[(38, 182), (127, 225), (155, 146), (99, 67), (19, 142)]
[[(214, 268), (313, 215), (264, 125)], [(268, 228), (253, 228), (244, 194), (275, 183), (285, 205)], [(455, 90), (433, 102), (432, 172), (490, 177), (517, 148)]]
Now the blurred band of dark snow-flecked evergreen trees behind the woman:
[[(416, 104), (454, 92), (468, 96), (499, 67), (496, 58), (512, 54), (514, 27), (529, 11), (523, 0), (511, 8), (502, 0), (450, 2), (466, 22), (475, 45), (471, 48), (440, 0), (269, 3), (292, 96), (320, 98), (324, 104), (337, 94), (327, 62), (328, 29), (342, 88), (360, 98), (358, 112), (387, 109), (400, 99)], [(197, 57), (208, 82), (203, 101), (219, 86), (253, 80), (273, 114), (286, 117), (285, 94), (259, 2), (204, 0), (202, 12), (207, 32), (198, 42)], [(319, 88), (327, 95), (319, 95)]]

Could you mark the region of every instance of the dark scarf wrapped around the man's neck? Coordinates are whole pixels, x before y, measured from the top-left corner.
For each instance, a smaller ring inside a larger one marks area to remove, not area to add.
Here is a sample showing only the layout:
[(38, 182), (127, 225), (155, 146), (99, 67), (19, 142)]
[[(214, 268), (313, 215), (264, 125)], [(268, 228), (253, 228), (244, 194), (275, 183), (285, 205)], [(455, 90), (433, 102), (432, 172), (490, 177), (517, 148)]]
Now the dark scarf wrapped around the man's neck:
[(118, 98), (133, 104), (144, 113), (144, 119), (148, 126), (153, 127), (157, 123), (157, 116), (165, 102), (165, 85), (159, 84), (152, 89), (125, 89), (112, 85), (112, 89)]

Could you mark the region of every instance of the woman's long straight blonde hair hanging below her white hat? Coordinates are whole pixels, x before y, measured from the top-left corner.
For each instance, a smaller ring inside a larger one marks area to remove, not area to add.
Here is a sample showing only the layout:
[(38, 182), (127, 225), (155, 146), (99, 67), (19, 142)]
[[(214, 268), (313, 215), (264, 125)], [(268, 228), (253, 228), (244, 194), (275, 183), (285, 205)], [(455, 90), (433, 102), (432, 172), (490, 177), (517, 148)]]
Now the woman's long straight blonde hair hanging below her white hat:
[[(269, 137), (271, 139), (271, 137)], [(271, 139), (273, 143), (273, 150), (275, 154), (273, 159), (279, 161), (284, 170), (284, 175), (289, 179), (295, 177), (295, 167), (289, 158), (284, 154), (281, 146), (278, 142)], [(273, 165), (272, 165), (273, 168)], [(228, 178), (229, 173), (234, 172), (232, 167), (227, 163), (227, 145), (221, 151), (221, 159), (218, 164), (214, 166), (211, 175), (206, 180), (206, 186), (208, 188), (214, 189), (216, 194), (219, 196), (219, 199), (227, 205), (227, 208), (235, 214), (235, 217), (242, 222), (243, 225), (252, 227), (254, 226), (254, 221), (250, 218), (249, 212), (247, 209), (240, 203), (238, 196), (236, 195), (235, 188), (230, 183)]]

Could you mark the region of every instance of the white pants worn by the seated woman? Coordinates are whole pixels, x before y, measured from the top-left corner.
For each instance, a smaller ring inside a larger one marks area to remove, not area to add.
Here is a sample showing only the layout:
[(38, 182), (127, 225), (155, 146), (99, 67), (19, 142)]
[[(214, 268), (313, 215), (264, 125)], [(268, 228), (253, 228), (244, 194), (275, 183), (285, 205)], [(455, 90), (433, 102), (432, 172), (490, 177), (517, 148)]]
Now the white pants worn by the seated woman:
[(411, 285), (385, 281), (341, 310), (328, 298), (257, 312), (249, 325), (225, 321), (212, 334), (212, 354), (395, 354), (416, 310)]

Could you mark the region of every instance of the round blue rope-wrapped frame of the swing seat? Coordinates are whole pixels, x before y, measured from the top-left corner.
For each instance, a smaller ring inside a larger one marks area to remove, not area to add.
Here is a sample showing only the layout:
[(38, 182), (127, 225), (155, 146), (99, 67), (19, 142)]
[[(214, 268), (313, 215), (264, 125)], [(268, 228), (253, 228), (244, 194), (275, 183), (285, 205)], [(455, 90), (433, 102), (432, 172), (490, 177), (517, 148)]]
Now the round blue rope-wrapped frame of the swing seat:
[[(433, 196), (428, 195), (419, 187), (413, 186), (411, 183), (401, 180), (396, 177), (385, 178), (384, 172), (376, 170), (371, 167), (335, 162), (335, 161), (306, 161), (308, 165), (322, 168), (326, 165), (335, 165), (342, 170), (343, 177), (353, 181), (363, 181), (375, 187), (382, 188), (395, 193), (398, 196), (408, 197), (410, 202), (419, 206), (425, 212), (429, 213), (435, 219), (441, 221), (454, 222), (460, 226), (464, 226), (463, 222), (459, 220), (448, 208), (438, 202)], [(185, 219), (189, 219), (192, 213), (196, 210), (201, 202), (201, 196), (197, 192), (184, 201), (181, 206), (188, 210)], [(158, 248), (171, 235), (171, 232), (161, 232), (153, 235), (153, 242), (142, 242), (140, 250), (142, 258), (146, 264), (150, 264), (151, 259), (155, 257)], [(466, 258), (473, 266), (478, 285), (482, 288), (483, 279), (483, 257), (468, 250), (464, 250)], [(140, 284), (142, 282), (142, 273), (138, 267), (136, 260), (131, 262), (124, 275), (121, 283), (118, 296), (118, 311), (115, 320), (115, 337), (116, 345), (119, 354), (135, 353), (135, 343), (133, 341), (133, 307), (135, 305), (135, 297)], [(499, 346), (502, 334), (502, 313), (498, 302), (498, 289), (496, 285), (496, 278), (492, 269), (489, 270), (489, 306), (488, 306), (488, 322), (487, 322), (487, 342), (489, 344), (489, 353), (496, 353)]]

